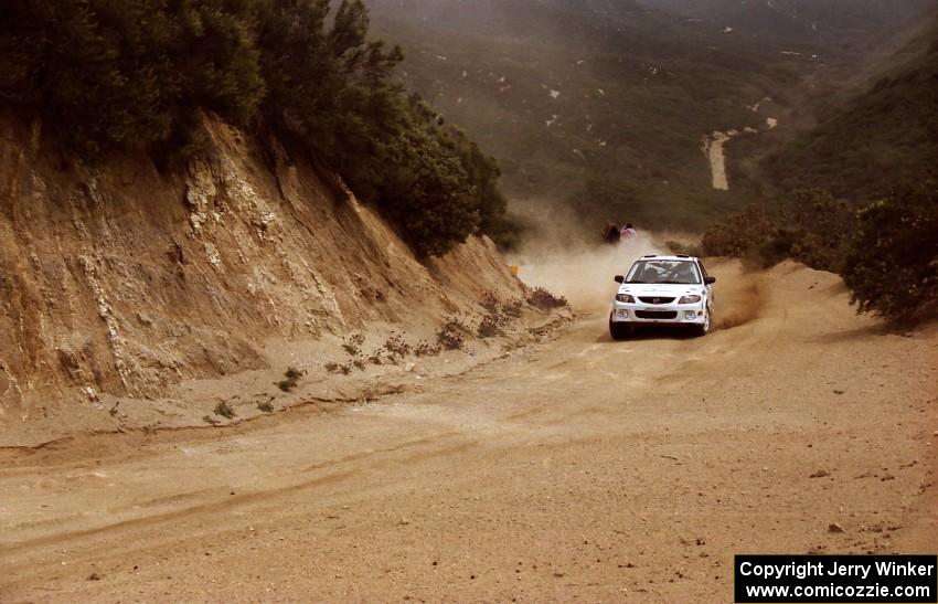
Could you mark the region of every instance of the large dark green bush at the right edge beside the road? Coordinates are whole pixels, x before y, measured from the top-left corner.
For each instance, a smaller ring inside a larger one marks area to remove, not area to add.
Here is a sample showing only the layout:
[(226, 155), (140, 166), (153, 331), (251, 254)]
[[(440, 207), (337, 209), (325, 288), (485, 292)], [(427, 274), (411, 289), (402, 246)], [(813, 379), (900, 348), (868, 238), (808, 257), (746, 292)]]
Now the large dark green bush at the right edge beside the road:
[(860, 212), (843, 267), (860, 311), (894, 326), (938, 318), (938, 183), (907, 187)]

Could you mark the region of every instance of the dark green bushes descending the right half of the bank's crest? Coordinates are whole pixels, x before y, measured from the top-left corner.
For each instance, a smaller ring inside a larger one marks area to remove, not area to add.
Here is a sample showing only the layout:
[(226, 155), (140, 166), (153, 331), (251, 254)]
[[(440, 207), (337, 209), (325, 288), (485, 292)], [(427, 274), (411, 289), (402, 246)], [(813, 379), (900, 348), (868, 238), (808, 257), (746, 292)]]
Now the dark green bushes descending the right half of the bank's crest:
[(391, 219), (414, 251), (440, 255), (505, 212), (494, 161), (391, 81), (398, 47), (366, 40), (367, 10), (343, 0), (260, 3), (268, 121), (337, 170)]

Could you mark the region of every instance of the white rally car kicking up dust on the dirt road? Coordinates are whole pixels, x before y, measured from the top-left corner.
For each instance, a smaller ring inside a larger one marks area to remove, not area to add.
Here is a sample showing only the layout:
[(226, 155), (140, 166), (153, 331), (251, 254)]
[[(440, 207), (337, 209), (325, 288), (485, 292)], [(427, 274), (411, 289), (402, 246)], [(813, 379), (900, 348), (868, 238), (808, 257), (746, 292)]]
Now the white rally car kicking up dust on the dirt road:
[(616, 276), (619, 292), (609, 315), (609, 333), (628, 338), (637, 325), (685, 325), (699, 336), (710, 332), (713, 284), (700, 258), (642, 256), (628, 275)]

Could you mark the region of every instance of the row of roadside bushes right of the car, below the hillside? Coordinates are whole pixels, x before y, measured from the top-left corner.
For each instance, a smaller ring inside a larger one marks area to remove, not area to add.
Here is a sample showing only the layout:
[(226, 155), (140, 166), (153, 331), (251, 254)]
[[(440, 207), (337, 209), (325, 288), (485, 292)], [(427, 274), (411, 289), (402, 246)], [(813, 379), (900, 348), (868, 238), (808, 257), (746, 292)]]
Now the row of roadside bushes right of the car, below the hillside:
[(938, 319), (938, 181), (862, 209), (827, 193), (753, 205), (711, 226), (704, 252), (770, 266), (785, 258), (843, 276), (857, 309), (894, 327)]

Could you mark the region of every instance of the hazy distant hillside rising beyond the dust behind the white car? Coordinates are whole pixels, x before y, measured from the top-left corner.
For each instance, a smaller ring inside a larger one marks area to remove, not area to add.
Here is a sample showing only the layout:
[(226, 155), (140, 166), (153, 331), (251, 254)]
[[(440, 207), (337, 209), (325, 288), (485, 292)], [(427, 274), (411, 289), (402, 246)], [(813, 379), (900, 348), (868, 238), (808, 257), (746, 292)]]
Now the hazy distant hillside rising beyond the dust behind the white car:
[[(403, 77), (492, 152), (527, 208), (700, 227), (738, 206), (702, 138), (813, 68), (781, 45), (612, 0), (371, 0)], [(516, 206), (518, 208), (518, 206)]]

